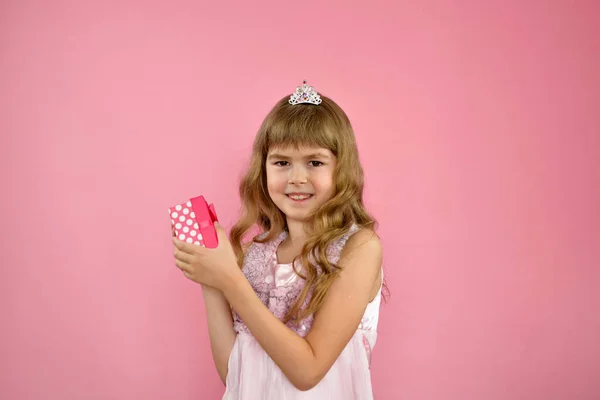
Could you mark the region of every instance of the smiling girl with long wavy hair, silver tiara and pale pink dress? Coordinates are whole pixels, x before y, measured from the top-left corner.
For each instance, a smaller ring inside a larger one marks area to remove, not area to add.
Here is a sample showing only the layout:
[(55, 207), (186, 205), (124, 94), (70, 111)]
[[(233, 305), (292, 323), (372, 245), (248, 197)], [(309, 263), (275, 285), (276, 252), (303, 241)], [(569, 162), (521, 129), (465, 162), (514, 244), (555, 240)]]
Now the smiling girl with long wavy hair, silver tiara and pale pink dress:
[(230, 237), (173, 238), (203, 287), (223, 399), (373, 398), (382, 250), (362, 195), (348, 117), (304, 82), (260, 127)]

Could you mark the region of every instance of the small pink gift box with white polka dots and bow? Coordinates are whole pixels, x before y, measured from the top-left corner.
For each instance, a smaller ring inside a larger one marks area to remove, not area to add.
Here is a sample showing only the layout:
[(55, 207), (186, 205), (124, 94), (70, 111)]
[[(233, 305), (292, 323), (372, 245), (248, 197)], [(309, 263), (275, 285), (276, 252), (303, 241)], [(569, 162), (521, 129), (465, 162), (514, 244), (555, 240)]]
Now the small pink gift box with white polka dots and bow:
[(218, 246), (214, 226), (218, 221), (217, 213), (214, 205), (208, 205), (203, 196), (170, 207), (169, 215), (175, 235), (180, 240), (208, 248)]

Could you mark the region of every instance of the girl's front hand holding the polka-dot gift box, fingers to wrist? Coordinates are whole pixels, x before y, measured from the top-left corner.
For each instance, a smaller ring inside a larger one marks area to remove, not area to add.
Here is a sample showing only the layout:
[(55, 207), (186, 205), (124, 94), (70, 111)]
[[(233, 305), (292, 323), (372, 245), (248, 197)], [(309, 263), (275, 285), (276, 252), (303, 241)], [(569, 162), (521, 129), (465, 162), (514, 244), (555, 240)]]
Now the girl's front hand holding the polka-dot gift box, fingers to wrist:
[(219, 238), (215, 249), (186, 243), (174, 236), (175, 264), (188, 279), (224, 291), (242, 275), (242, 271), (227, 233), (218, 223), (215, 223), (215, 230)]

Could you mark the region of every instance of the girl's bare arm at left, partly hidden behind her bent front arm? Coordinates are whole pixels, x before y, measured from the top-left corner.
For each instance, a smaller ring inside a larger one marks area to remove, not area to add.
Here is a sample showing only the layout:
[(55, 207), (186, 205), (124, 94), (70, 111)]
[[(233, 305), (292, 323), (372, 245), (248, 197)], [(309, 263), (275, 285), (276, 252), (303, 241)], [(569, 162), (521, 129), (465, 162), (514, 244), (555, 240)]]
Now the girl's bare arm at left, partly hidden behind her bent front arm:
[(206, 306), (210, 350), (219, 377), (225, 384), (229, 356), (236, 338), (231, 308), (220, 290), (202, 285), (202, 293)]

